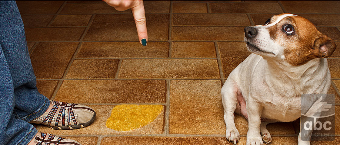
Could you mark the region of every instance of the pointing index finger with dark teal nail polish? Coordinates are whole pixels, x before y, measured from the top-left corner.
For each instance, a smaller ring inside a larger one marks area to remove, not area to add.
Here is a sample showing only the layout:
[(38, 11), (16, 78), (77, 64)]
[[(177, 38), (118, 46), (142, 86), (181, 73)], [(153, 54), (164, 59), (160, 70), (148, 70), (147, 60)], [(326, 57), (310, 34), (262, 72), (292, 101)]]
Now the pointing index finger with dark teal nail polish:
[(131, 8), (131, 10), (135, 19), (139, 42), (143, 46), (146, 46), (148, 41), (148, 32), (143, 2)]

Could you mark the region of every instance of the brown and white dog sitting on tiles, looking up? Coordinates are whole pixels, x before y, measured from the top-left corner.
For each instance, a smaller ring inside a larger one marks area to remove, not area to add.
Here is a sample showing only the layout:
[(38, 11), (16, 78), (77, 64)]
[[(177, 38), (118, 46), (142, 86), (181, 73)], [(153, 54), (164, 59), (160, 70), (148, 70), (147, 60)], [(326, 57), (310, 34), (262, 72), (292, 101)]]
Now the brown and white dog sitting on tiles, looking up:
[[(331, 78), (326, 58), (336, 44), (307, 19), (287, 13), (272, 16), (265, 25), (245, 27), (244, 36), (252, 54), (221, 89), (226, 138), (234, 144), (240, 138), (236, 112), (248, 119), (246, 145), (263, 145), (272, 140), (267, 124), (301, 117), (301, 95), (327, 94)], [(301, 140), (301, 132), (298, 139), (299, 145), (310, 142)]]

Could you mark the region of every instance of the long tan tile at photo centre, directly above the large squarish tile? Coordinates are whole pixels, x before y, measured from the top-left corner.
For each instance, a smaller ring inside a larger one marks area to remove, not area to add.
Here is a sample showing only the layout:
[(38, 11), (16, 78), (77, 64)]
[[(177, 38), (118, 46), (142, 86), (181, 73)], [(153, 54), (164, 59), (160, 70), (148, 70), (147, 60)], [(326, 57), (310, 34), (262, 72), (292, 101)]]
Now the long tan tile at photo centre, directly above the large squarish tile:
[(213, 59), (123, 60), (118, 78), (220, 78)]

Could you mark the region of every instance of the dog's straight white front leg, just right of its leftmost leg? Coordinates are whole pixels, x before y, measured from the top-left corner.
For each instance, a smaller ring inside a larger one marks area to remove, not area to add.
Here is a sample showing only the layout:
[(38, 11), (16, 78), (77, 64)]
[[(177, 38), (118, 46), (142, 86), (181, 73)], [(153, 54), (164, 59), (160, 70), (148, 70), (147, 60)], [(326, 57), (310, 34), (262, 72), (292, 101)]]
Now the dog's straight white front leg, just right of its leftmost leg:
[(246, 145), (263, 145), (260, 134), (262, 106), (252, 97), (247, 102), (248, 133)]

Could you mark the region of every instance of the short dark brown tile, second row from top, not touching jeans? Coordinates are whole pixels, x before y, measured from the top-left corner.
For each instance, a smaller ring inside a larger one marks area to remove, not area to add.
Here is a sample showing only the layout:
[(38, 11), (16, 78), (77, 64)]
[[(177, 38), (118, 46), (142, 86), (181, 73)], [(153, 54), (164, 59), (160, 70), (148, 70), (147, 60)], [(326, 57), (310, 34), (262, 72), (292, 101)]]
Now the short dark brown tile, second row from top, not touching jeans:
[(57, 15), (51, 26), (87, 26), (92, 15)]

